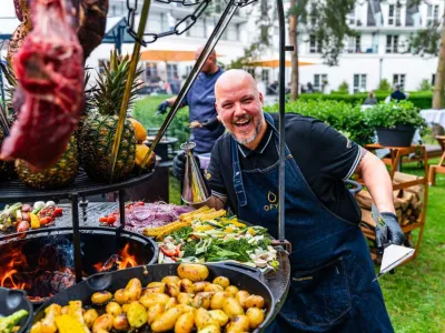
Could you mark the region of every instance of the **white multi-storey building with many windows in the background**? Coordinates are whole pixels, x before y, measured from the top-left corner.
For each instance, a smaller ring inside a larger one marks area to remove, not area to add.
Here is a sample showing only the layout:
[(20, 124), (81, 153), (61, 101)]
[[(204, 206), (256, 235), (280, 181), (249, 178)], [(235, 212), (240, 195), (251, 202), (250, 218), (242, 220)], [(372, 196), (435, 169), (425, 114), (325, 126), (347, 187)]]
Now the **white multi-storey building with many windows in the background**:
[[(399, 83), (403, 89), (416, 90), (422, 80), (434, 80), (437, 58), (413, 56), (407, 50), (407, 39), (416, 30), (427, 27), (429, 22), (438, 21), (444, 11), (443, 0), (427, 0), (418, 7), (411, 7), (412, 0), (357, 0), (355, 10), (348, 16), (348, 23), (359, 37), (345, 42), (345, 50), (339, 58), (337, 67), (324, 64), (319, 53), (317, 41), (305, 32), (305, 27), (299, 27), (298, 51), (300, 61), (312, 62), (312, 65), (300, 67), (299, 82), (312, 82), (315, 89), (322, 90), (323, 82), (327, 81), (325, 92), (337, 90), (342, 82), (346, 81), (349, 92), (370, 91), (386, 79), (389, 83)], [(127, 17), (126, 0), (109, 1), (109, 17)], [(130, 1), (134, 3), (134, 0)], [(288, 1), (285, 1), (288, 2)], [(142, 1), (139, 0), (139, 10)], [(275, 1), (270, 0), (270, 6)], [(7, 6), (9, 4), (9, 6)], [(4, 3), (0, 17), (13, 16), (12, 0)], [(148, 44), (145, 50), (178, 50), (195, 51), (204, 46), (210, 36), (215, 24), (222, 12), (226, 1), (214, 0), (206, 13), (199, 18), (196, 24), (182, 36), (169, 36), (160, 38), (155, 43)], [(10, 7), (10, 8), (9, 8)], [(150, 17), (146, 32), (169, 31), (175, 23), (190, 14), (196, 6), (182, 6), (180, 3), (161, 3), (151, 1)], [(218, 61), (228, 64), (231, 60), (244, 54), (244, 49), (249, 47), (258, 36), (259, 3), (254, 2), (240, 8), (231, 20), (227, 31), (216, 47), (220, 56)], [(278, 22), (276, 10), (273, 16), (273, 47), (265, 52), (263, 60), (278, 59)], [(138, 19), (136, 21), (138, 23)], [(286, 33), (287, 38), (287, 33)], [(87, 64), (98, 68), (109, 57), (112, 44), (99, 46), (88, 59)], [(4, 49), (3, 49), (4, 51)], [(132, 44), (122, 46), (123, 53), (132, 52)], [(288, 59), (290, 59), (288, 54)], [(188, 74), (194, 61), (188, 62), (147, 62), (145, 80), (159, 77), (162, 80), (171, 79), (175, 74), (184, 77)], [(270, 83), (278, 79), (278, 70), (258, 68), (255, 70), (258, 81)], [(287, 69), (286, 82), (290, 81), (290, 69)]]

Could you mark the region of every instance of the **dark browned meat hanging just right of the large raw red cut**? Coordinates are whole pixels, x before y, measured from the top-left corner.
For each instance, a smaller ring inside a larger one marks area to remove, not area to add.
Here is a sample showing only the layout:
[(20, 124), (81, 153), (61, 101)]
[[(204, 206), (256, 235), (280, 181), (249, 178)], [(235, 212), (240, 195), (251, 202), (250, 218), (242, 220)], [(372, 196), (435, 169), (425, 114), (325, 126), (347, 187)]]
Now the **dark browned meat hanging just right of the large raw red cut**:
[(77, 36), (83, 48), (85, 59), (102, 42), (107, 26), (107, 13), (108, 0), (80, 0)]

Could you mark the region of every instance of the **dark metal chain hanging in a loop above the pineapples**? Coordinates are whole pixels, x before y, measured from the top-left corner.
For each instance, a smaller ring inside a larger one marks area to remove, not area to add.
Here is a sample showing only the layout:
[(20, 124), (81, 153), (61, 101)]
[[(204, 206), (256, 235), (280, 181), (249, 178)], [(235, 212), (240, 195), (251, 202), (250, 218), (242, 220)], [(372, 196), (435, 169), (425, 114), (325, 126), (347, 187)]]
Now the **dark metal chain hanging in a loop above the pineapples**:
[[(198, 4), (196, 10), (186, 16), (184, 19), (181, 19), (178, 23), (176, 23), (175, 29), (170, 31), (165, 31), (160, 33), (144, 33), (144, 39), (139, 39), (137, 37), (136, 30), (135, 30), (135, 17), (138, 10), (138, 1), (135, 0), (135, 7), (130, 6), (130, 0), (127, 0), (127, 9), (128, 9), (128, 14), (127, 14), (127, 32), (135, 39), (135, 41), (139, 42), (141, 46), (147, 47), (147, 44), (156, 42), (159, 38), (171, 36), (171, 34), (182, 34), (187, 30), (189, 30), (196, 21), (200, 18), (200, 16), (205, 12), (207, 9), (208, 4), (211, 2), (211, 0), (156, 0), (161, 3), (182, 3), (182, 6), (195, 6)], [(245, 7), (247, 4), (250, 4), (257, 0), (238, 0), (235, 1), (235, 3), (239, 7)]]

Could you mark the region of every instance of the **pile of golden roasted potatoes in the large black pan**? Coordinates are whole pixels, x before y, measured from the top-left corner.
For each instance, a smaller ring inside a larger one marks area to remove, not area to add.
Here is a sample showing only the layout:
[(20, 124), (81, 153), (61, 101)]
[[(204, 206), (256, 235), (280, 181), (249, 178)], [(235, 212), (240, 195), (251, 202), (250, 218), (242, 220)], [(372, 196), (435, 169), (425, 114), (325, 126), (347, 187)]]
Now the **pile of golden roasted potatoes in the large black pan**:
[(155, 333), (235, 333), (263, 323), (261, 296), (238, 290), (225, 276), (206, 281), (209, 271), (202, 264), (180, 264), (177, 273), (146, 287), (131, 279), (113, 295), (108, 291), (92, 294), (93, 307), (83, 312), (82, 324), (93, 333), (137, 331), (146, 324)]

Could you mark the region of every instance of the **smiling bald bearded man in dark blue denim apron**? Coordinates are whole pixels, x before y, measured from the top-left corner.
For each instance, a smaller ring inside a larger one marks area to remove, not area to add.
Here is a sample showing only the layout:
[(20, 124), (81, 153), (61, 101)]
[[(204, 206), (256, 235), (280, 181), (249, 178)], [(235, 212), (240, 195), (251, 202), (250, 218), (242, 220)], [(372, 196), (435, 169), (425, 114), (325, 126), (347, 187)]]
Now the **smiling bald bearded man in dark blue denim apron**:
[[(254, 78), (224, 73), (215, 85), (225, 133), (215, 144), (206, 179), (207, 205), (228, 206), (239, 219), (278, 236), (278, 114), (263, 112)], [(393, 332), (375, 278), (360, 211), (344, 180), (362, 176), (385, 219), (388, 234), (378, 246), (402, 244), (393, 191), (375, 155), (313, 118), (287, 113), (286, 239), (291, 281), (269, 332)], [(179, 160), (176, 159), (179, 163)], [(180, 168), (176, 175), (181, 178)]]

